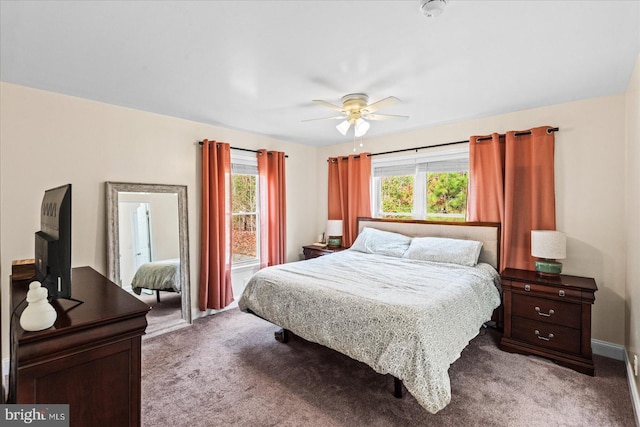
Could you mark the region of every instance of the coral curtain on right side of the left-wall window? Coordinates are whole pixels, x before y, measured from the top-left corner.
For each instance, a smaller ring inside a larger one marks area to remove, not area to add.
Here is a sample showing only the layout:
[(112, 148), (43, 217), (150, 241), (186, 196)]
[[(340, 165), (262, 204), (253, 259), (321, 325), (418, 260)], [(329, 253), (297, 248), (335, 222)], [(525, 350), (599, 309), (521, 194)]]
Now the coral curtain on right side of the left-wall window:
[(260, 178), (260, 268), (287, 260), (285, 154), (258, 150)]

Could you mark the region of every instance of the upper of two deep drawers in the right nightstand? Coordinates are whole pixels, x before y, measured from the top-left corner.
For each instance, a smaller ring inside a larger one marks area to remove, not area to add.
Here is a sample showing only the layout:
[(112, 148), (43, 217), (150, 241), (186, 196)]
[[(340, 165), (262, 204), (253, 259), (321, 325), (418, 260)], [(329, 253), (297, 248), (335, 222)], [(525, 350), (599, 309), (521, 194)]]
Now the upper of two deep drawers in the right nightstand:
[(512, 294), (511, 298), (511, 313), (514, 316), (569, 328), (581, 327), (580, 304), (522, 294)]

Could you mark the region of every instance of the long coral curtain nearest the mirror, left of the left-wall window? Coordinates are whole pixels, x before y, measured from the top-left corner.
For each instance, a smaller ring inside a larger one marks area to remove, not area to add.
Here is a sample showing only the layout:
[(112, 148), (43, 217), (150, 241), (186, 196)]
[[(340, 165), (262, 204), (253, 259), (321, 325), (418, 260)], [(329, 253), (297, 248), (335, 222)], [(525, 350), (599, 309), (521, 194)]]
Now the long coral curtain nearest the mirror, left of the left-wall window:
[(231, 151), (229, 144), (202, 144), (199, 308), (221, 309), (231, 289)]

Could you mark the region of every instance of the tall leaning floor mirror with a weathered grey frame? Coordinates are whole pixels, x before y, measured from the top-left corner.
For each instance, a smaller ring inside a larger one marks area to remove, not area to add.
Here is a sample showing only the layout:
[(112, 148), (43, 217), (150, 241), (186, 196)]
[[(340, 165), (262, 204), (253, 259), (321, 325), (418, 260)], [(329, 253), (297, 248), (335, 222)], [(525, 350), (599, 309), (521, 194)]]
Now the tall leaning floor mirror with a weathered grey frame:
[(106, 186), (109, 279), (152, 306), (148, 336), (191, 323), (186, 186)]

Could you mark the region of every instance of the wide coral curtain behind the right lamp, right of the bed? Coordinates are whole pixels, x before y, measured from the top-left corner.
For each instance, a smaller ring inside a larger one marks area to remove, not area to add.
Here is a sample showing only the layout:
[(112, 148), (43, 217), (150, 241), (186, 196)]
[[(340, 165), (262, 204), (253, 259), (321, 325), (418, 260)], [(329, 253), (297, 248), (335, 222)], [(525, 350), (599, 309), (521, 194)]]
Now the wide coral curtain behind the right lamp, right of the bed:
[(467, 220), (502, 223), (501, 269), (533, 270), (531, 230), (556, 228), (555, 138), (549, 129), (469, 138)]

